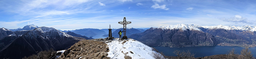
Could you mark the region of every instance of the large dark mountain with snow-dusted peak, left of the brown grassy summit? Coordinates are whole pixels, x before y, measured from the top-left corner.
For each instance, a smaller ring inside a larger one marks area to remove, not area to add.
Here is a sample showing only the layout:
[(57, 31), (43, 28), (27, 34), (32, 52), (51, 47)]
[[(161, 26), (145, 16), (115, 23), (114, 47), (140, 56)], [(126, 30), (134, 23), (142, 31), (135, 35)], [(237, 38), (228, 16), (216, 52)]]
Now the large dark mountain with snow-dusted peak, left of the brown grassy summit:
[(7, 37), (6, 39), (1, 39), (9, 44), (1, 49), (0, 58), (20, 59), (24, 56), (35, 54), (37, 51), (49, 50), (50, 48), (53, 48), (56, 51), (67, 49), (80, 40), (86, 40), (80, 37), (73, 37), (55, 28), (44, 26), (34, 30), (23, 31), (28, 32), (21, 36), (20, 34), (9, 35), (9, 38), (20, 36), (15, 38), (13, 41), (9, 41)]

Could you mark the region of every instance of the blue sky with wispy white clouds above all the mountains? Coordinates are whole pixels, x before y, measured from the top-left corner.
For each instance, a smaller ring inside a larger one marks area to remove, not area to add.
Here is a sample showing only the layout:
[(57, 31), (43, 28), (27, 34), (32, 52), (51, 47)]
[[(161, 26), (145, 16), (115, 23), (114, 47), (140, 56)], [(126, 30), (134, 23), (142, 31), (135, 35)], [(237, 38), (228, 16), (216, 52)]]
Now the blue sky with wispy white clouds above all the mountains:
[(0, 27), (61, 30), (175, 24), (256, 26), (256, 0), (0, 0)]

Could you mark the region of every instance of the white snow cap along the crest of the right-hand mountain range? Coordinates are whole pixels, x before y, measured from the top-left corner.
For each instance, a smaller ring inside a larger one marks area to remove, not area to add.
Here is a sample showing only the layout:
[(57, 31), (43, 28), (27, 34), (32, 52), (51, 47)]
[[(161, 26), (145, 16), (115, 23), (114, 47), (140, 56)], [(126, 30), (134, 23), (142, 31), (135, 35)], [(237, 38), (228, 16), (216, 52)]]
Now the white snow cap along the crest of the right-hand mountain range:
[(197, 26), (197, 25), (188, 25), (188, 24), (177, 24), (177, 25), (166, 25), (159, 27), (159, 29), (182, 29), (184, 30), (199, 30), (202, 31), (200, 28), (205, 29), (226, 29), (226, 30), (241, 30), (241, 31), (256, 31), (256, 26), (223, 26), (223, 25), (217, 25), (217, 26)]

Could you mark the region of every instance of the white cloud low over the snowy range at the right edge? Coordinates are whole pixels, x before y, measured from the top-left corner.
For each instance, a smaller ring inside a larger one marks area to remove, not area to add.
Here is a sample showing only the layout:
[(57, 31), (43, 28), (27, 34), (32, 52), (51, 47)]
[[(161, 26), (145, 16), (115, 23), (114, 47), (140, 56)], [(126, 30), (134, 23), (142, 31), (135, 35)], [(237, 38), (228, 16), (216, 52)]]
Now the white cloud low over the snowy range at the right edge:
[(247, 18), (242, 17), (241, 15), (235, 15), (235, 17), (230, 17), (230, 18), (219, 18), (222, 21), (227, 21), (227, 22), (240, 22), (240, 23), (246, 23), (246, 24), (256, 24), (256, 20), (248, 20)]

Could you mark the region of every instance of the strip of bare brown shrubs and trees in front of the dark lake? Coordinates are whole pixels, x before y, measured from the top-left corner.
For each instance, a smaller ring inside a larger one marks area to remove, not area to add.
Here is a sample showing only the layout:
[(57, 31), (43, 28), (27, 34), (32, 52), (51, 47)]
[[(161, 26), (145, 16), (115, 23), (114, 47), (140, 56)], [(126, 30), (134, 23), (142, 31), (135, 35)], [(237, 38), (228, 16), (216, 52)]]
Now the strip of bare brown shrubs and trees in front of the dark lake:
[(228, 51), (226, 55), (212, 55), (205, 57), (194, 58), (195, 54), (191, 54), (190, 51), (174, 51), (177, 56), (165, 56), (168, 59), (256, 59), (253, 57), (251, 50), (244, 48), (241, 50), (240, 55), (236, 54), (235, 49)]

